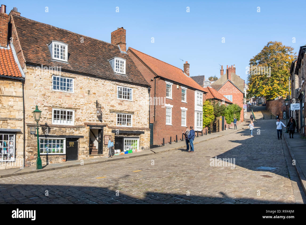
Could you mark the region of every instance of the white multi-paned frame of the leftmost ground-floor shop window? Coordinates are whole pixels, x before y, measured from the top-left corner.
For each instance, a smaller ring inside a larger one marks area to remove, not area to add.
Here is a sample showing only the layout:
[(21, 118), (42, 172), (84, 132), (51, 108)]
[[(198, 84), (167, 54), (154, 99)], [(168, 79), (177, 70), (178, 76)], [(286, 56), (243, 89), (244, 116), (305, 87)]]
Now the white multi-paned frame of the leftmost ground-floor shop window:
[[(8, 140), (3, 140), (4, 135), (7, 135)], [(16, 152), (16, 149), (15, 149), (16, 148), (16, 145), (15, 145), (16, 134), (15, 133), (0, 133), (0, 136), (2, 136), (2, 140), (0, 141), (0, 146), (1, 146), (0, 147), (0, 158), (1, 158), (0, 162), (14, 162), (15, 161), (15, 152)], [(10, 136), (13, 136), (13, 140), (9, 140)], [(4, 142), (6, 142), (6, 146), (4, 146)], [(13, 145), (13, 146), (10, 146), (10, 145)], [(5, 148), (5, 150), (4, 150), (4, 148)], [(13, 150), (13, 153), (9, 153), (9, 152), (12, 152), (12, 150)], [(6, 153), (4, 153), (4, 152), (6, 152)], [(13, 158), (10, 157), (10, 159), (3, 159), (4, 155), (6, 155), (7, 157), (13, 155)]]

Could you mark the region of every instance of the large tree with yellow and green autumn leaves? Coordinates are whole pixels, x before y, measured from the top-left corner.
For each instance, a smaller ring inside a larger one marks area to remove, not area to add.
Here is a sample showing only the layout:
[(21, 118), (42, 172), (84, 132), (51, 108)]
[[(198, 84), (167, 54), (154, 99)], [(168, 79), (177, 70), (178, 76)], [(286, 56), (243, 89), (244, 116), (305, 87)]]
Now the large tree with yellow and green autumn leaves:
[(248, 97), (266, 96), (266, 99), (274, 99), (289, 94), (290, 66), (297, 57), (293, 51), (293, 47), (285, 46), (282, 42), (270, 41), (250, 59)]

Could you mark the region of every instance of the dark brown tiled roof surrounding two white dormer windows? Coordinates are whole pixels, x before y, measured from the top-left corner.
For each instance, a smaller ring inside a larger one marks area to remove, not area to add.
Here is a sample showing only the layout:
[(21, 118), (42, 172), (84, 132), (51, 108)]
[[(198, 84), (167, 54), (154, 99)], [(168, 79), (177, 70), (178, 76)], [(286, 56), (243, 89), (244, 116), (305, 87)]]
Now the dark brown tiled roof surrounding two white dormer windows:
[[(61, 66), (62, 71), (149, 86), (129, 55), (121, 53), (118, 45), (24, 17), (12, 16), (27, 64)], [(83, 43), (80, 41), (82, 39)], [(53, 40), (68, 44), (68, 62), (52, 59), (48, 44)], [(125, 75), (114, 73), (108, 61), (114, 57), (126, 60)]]

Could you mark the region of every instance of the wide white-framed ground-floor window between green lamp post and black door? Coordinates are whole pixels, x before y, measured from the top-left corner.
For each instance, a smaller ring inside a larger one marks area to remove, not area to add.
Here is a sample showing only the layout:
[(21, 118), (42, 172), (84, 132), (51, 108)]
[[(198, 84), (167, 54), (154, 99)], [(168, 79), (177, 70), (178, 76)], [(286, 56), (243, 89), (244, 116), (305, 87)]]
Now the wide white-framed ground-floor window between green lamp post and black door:
[(42, 155), (66, 154), (66, 139), (39, 138), (39, 152)]

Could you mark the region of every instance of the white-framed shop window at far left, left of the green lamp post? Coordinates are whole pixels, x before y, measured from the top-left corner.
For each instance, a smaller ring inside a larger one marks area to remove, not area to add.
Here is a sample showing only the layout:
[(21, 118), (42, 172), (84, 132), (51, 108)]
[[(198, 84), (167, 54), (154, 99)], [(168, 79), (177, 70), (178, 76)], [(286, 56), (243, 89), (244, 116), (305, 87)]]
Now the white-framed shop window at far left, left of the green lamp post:
[(15, 160), (15, 134), (0, 133), (0, 161)]

